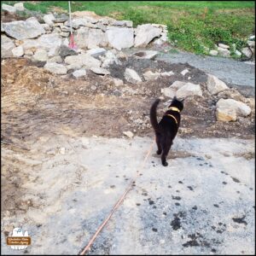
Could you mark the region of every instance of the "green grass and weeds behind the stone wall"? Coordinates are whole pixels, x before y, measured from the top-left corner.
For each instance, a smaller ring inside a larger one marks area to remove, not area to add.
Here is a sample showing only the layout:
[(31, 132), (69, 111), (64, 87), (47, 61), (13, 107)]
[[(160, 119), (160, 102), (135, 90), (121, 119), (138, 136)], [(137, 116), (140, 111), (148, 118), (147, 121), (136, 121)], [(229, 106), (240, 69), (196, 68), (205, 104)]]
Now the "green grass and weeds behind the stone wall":
[[(67, 1), (24, 2), (24, 5), (43, 13), (54, 7), (68, 10)], [(132, 20), (134, 26), (166, 24), (172, 44), (204, 54), (203, 46), (213, 49), (220, 42), (236, 44), (241, 49), (247, 36), (254, 34), (254, 5), (254, 1), (72, 1), (72, 11), (90, 10), (117, 20)]]

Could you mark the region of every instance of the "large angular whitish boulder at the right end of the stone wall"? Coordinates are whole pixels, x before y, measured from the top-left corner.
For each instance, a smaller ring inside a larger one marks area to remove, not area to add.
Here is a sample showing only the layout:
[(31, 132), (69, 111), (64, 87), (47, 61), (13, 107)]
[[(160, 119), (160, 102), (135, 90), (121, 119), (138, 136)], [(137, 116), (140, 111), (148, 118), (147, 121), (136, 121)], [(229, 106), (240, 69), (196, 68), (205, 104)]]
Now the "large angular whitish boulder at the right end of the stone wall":
[(154, 38), (159, 38), (162, 30), (158, 27), (154, 27), (151, 24), (144, 24), (137, 26), (136, 37), (134, 41), (134, 46), (146, 46)]

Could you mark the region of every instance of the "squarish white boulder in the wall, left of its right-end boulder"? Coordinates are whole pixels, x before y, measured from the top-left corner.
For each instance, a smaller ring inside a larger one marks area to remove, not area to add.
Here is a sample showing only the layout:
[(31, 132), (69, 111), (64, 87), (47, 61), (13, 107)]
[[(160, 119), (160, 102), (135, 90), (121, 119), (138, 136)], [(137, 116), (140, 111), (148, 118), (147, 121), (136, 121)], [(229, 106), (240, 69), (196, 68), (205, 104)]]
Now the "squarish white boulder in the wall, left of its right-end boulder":
[(115, 49), (131, 48), (134, 44), (133, 28), (110, 26), (106, 35), (109, 45)]

